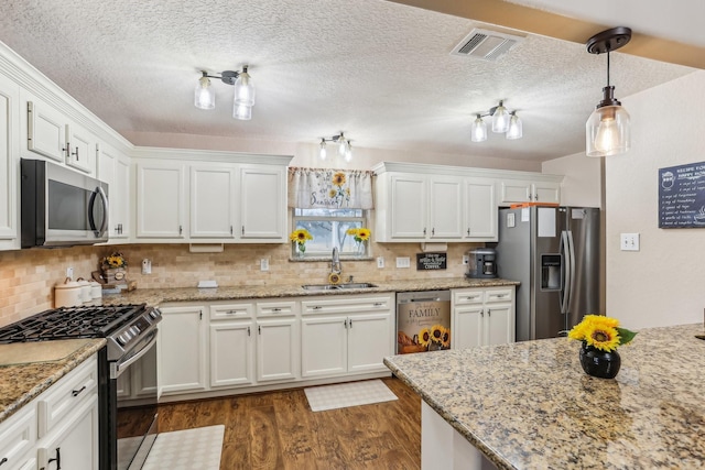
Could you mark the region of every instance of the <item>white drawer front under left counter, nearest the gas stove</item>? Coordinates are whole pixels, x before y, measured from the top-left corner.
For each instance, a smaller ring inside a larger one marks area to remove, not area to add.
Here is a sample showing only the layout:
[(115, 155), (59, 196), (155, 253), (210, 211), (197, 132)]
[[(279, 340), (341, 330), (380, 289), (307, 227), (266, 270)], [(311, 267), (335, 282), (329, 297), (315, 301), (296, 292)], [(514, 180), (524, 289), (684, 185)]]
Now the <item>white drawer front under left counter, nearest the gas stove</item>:
[(98, 365), (91, 357), (53, 385), (37, 401), (39, 437), (44, 437), (64, 416), (73, 412), (98, 384)]

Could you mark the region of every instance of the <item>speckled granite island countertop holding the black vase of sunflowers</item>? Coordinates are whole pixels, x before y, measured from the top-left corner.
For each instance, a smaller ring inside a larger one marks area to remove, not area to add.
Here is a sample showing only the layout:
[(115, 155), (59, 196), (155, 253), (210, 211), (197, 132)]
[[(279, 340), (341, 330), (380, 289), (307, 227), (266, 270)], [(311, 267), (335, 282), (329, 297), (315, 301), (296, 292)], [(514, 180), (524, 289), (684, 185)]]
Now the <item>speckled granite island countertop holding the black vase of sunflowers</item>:
[(614, 380), (567, 338), (384, 359), (502, 469), (705, 467), (702, 324), (640, 330)]

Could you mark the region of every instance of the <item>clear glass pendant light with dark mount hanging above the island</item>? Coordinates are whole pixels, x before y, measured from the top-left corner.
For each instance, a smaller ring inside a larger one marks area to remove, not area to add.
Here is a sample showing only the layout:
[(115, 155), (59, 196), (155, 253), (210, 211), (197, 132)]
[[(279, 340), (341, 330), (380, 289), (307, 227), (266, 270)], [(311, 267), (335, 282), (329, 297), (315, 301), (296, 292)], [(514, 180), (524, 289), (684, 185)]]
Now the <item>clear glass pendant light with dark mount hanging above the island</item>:
[(618, 155), (629, 151), (629, 113), (615, 98), (615, 87), (609, 85), (609, 53), (617, 51), (631, 39), (629, 28), (612, 28), (587, 41), (590, 54), (607, 53), (607, 86), (603, 88), (603, 100), (585, 123), (585, 153), (587, 156)]

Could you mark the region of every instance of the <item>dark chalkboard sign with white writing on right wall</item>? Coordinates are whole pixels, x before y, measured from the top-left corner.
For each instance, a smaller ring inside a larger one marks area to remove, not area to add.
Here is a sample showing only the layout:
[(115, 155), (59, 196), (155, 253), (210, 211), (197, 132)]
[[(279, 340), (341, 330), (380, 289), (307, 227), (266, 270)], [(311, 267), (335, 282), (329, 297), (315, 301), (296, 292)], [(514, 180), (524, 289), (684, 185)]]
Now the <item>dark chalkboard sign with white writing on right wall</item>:
[(705, 162), (659, 168), (659, 228), (705, 228)]

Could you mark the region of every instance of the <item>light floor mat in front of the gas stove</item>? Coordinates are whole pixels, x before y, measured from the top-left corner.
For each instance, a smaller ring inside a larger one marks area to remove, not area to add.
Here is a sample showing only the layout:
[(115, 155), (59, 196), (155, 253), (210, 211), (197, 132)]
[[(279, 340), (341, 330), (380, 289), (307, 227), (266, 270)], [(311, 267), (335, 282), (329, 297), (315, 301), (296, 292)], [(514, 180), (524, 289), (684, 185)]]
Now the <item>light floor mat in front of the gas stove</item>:
[(218, 470), (225, 426), (160, 433), (142, 470)]

